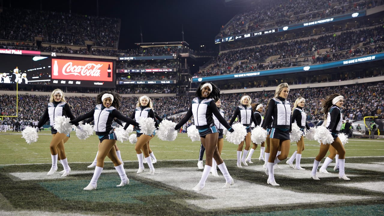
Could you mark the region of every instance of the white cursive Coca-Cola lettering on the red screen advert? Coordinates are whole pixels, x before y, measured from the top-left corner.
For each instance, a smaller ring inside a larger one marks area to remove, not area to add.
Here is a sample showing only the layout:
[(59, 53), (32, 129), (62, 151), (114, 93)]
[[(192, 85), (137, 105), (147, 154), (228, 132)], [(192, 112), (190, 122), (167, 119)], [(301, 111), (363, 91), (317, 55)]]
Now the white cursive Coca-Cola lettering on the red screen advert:
[(72, 65), (72, 62), (68, 62), (63, 67), (64, 75), (81, 75), (81, 76), (100, 76), (101, 64), (88, 63), (85, 66)]

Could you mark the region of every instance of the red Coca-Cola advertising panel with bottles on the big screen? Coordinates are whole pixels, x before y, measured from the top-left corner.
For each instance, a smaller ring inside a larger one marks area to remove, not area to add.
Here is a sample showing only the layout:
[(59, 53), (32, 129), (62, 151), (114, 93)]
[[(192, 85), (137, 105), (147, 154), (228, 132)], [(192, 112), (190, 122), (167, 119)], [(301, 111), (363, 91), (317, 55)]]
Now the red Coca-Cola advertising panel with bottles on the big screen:
[(52, 59), (52, 79), (113, 81), (113, 62)]

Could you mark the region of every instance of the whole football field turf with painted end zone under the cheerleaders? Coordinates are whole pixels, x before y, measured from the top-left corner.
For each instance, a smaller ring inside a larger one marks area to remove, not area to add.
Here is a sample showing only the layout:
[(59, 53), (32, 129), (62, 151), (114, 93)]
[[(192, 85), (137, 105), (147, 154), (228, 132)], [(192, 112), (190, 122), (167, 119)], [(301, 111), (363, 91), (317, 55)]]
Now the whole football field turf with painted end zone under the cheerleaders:
[[(38, 135), (38, 141), (28, 145), (21, 133), (0, 133), (0, 215), (384, 215), (382, 140), (350, 139), (345, 145), (346, 175), (351, 181), (338, 178), (334, 162), (329, 174), (318, 173), (320, 181), (311, 179), (319, 144), (305, 140), (301, 164), (306, 170), (293, 170), (282, 161), (275, 169), (280, 187), (266, 184), (263, 162), (257, 160), (259, 147), (254, 163), (238, 168), (237, 146), (225, 141), (222, 158), (235, 184), (222, 188), (225, 179), (218, 171), (219, 177), (210, 175), (196, 193), (192, 188), (202, 173), (197, 168), (200, 143), (186, 134), (172, 142), (151, 140), (155, 175), (148, 174), (147, 164), (143, 173), (136, 174), (134, 145), (118, 142), (130, 184), (116, 187), (120, 178), (106, 159), (93, 191), (83, 188), (92, 178), (93, 169), (87, 166), (98, 150), (97, 136), (79, 140), (71, 133), (65, 144), (71, 173), (61, 178), (58, 172), (46, 175), (51, 166), (50, 132)], [(295, 147), (291, 145), (290, 154)]]

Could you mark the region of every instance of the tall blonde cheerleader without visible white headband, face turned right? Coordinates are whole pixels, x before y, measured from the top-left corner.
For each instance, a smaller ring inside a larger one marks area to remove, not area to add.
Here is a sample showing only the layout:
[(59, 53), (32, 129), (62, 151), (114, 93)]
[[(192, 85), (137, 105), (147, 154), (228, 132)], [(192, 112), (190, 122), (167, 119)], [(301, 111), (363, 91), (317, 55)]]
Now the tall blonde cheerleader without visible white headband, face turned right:
[[(290, 148), (290, 131), (291, 124), (291, 104), (286, 100), (289, 93), (287, 83), (281, 83), (277, 86), (275, 96), (268, 103), (268, 111), (265, 121), (270, 122), (273, 118), (272, 129), (270, 135), (270, 154), (268, 164), (265, 167), (265, 173), (268, 173), (267, 184), (279, 186), (273, 175), (273, 165), (287, 158)], [(264, 124), (263, 128), (266, 129)], [(278, 154), (278, 148), (281, 147), (281, 153)]]

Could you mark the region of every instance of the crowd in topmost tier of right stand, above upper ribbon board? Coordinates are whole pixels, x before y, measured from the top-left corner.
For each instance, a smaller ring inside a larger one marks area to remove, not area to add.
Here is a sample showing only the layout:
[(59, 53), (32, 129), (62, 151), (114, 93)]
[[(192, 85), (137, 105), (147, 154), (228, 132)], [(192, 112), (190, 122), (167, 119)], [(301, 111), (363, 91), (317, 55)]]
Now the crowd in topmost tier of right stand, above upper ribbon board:
[(329, 0), (257, 1), (247, 11), (233, 17), (215, 38), (366, 10), (377, 5), (376, 0), (341, 0), (336, 4)]

